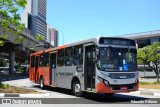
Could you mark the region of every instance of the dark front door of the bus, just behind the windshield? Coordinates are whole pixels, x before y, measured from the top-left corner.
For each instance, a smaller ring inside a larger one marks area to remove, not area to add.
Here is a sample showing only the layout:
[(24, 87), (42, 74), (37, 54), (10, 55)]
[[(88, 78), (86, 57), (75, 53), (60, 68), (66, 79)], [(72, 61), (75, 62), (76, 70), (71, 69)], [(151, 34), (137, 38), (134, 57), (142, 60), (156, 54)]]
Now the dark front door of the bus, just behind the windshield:
[(95, 91), (95, 45), (85, 47), (85, 90)]

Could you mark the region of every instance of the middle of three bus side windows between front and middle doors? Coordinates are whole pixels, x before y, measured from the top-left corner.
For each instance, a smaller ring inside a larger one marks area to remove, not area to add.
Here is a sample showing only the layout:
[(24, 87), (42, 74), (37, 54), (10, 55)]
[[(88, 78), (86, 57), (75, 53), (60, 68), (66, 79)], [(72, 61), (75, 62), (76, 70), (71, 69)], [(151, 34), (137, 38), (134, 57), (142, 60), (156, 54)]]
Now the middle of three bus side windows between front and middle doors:
[(72, 47), (66, 48), (65, 49), (65, 65), (66, 66), (72, 65), (72, 57), (73, 57)]

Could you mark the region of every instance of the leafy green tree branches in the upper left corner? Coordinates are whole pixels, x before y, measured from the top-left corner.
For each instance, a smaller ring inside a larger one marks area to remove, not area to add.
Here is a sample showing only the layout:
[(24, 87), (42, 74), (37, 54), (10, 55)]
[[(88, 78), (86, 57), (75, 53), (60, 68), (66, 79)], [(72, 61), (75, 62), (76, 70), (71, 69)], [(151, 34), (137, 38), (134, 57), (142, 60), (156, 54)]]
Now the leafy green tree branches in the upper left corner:
[[(0, 32), (0, 46), (3, 46), (7, 38), (5, 31), (12, 32), (14, 34), (20, 34), (24, 30), (25, 25), (20, 23), (20, 15), (17, 13), (20, 8), (25, 7), (26, 0), (0, 0), (0, 24), (4, 28)], [(14, 29), (11, 27), (14, 26)], [(19, 35), (15, 41), (22, 43), (24, 40), (23, 36)]]

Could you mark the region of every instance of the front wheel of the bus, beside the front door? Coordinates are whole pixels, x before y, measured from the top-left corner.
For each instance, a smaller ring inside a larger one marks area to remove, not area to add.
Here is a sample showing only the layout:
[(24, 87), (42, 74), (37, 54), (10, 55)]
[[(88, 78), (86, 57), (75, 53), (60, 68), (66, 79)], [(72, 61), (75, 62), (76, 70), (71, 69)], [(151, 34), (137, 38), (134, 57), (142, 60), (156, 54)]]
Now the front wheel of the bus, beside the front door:
[(75, 81), (72, 85), (73, 94), (77, 97), (82, 96), (81, 84), (79, 81)]

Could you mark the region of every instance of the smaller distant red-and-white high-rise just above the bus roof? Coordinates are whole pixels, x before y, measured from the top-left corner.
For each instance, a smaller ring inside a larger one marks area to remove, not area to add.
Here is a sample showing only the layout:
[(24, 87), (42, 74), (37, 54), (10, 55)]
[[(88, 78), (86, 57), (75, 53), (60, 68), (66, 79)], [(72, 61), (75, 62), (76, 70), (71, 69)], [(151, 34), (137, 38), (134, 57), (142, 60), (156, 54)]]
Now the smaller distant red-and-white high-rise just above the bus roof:
[(59, 33), (55, 28), (49, 28), (50, 43), (52, 46), (57, 47), (59, 45)]

